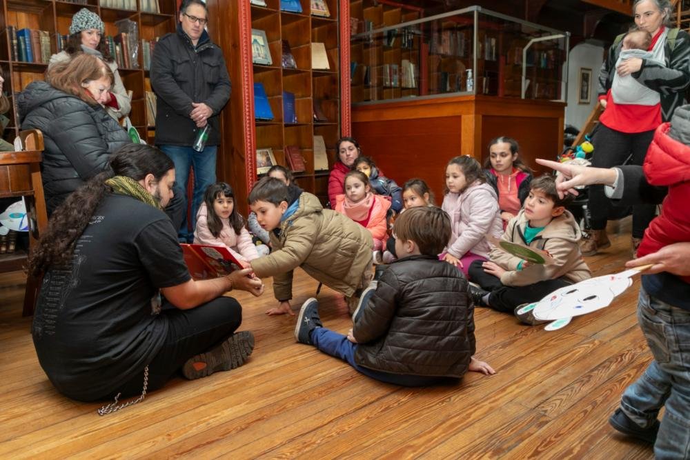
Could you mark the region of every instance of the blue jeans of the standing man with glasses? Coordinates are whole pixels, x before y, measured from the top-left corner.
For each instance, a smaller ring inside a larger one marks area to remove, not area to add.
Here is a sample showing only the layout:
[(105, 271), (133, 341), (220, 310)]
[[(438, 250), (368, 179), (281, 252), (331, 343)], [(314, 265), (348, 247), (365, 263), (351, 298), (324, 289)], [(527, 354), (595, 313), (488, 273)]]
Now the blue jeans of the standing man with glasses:
[[(215, 183), (216, 152), (218, 146), (206, 146), (202, 152), (197, 152), (191, 147), (186, 146), (159, 146), (173, 163), (175, 163), (175, 194), (182, 197), (184, 204), (184, 219), (182, 225), (177, 229), (179, 239), (190, 242), (194, 238), (193, 232), (197, 224), (197, 212), (199, 206), (204, 201), (206, 188)], [(194, 168), (194, 192), (192, 198), (191, 228), (188, 230), (187, 221), (187, 181), (189, 180), (189, 170)]]

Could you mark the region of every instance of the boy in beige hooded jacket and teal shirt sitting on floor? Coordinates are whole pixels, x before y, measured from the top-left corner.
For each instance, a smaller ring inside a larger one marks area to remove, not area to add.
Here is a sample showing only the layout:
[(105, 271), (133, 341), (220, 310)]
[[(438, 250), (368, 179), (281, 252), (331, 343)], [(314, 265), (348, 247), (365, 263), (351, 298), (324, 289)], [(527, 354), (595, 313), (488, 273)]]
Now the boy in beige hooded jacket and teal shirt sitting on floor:
[[(482, 287), (470, 286), (476, 306), (513, 313), (523, 303), (540, 301), (557, 289), (591, 277), (578, 246), (580, 227), (565, 209), (571, 199), (571, 195), (558, 196), (553, 176), (533, 179), (524, 209), (509, 221), (501, 240), (545, 250), (553, 263), (531, 264), (493, 248), (490, 261), (475, 261), (469, 268), (471, 279)], [(531, 315), (519, 319), (535, 323)]]

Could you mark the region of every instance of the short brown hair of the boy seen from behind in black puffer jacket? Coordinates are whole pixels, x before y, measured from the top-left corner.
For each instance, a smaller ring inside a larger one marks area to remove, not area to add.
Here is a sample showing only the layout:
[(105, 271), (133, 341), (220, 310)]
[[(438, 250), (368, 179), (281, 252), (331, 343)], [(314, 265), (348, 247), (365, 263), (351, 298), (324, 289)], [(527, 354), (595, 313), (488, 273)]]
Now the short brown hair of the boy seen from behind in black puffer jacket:
[(410, 208), (395, 220), (395, 239), (414, 241), (427, 256), (443, 252), (451, 235), (451, 219), (436, 206)]

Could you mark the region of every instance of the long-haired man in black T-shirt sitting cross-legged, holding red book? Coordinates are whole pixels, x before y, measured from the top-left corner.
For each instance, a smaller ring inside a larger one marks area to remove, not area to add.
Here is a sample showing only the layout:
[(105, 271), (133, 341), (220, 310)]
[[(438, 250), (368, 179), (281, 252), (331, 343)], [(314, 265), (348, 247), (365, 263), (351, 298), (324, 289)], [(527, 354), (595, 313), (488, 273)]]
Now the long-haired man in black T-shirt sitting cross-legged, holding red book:
[(141, 393), (140, 401), (179, 371), (197, 379), (233, 369), (253, 350), (251, 332), (235, 333), (242, 307), (222, 294), (259, 295), (263, 285), (249, 269), (191, 279), (162, 210), (173, 183), (166, 154), (130, 143), (63, 201), (32, 252), (28, 269), (43, 275), (34, 346), (50, 382), (70, 398)]

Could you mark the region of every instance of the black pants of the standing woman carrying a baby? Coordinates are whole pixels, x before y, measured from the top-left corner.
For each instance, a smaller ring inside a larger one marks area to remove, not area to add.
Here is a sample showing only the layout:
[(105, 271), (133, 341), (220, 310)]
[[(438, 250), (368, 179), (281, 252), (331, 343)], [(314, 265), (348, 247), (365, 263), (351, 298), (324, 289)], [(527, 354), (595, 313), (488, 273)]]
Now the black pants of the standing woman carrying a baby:
[[(642, 166), (653, 137), (654, 130), (627, 133), (612, 130), (599, 123), (592, 137), (594, 146), (592, 166), (594, 168), (621, 166), (631, 155), (627, 164)], [(604, 194), (604, 186), (589, 186), (587, 208), (591, 216), (591, 230), (604, 230), (613, 208), (611, 200)], [(655, 213), (656, 206), (654, 205), (633, 206), (633, 237), (642, 238), (644, 236), (644, 230), (654, 219)]]

